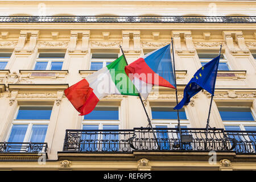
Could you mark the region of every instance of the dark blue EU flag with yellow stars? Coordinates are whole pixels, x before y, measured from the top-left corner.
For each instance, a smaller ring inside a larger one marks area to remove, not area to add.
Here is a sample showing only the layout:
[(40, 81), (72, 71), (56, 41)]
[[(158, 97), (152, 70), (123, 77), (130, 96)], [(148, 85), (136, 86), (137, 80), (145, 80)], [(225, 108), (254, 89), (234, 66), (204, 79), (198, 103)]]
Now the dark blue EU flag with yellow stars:
[(202, 89), (207, 90), (207, 92), (214, 96), (219, 61), (220, 55), (197, 70), (195, 75), (185, 86), (183, 99), (174, 107), (174, 109), (179, 110), (184, 105), (188, 105), (191, 97), (195, 96), (195, 94), (199, 93)]

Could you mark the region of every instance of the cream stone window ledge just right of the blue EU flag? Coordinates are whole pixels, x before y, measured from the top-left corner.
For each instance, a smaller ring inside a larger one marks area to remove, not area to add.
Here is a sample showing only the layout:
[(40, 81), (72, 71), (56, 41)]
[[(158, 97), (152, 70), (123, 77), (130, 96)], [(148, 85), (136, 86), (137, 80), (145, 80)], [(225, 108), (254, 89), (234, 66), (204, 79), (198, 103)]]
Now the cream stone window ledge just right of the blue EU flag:
[(217, 79), (233, 79), (238, 80), (246, 77), (246, 70), (242, 71), (218, 71)]

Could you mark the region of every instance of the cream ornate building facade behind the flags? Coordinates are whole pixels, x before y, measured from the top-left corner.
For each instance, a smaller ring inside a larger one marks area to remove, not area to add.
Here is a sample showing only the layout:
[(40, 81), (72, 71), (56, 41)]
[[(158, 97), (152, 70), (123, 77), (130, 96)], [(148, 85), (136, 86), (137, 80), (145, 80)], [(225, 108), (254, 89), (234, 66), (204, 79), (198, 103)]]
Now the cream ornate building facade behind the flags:
[[(256, 169), (255, 1), (1, 1), (0, 169)], [(230, 4), (232, 3), (232, 4)], [(11, 11), (10, 11), (11, 10)], [(180, 110), (174, 89), (110, 95), (80, 116), (64, 90), (122, 55), (174, 40), (177, 97), (222, 44), (210, 94)]]

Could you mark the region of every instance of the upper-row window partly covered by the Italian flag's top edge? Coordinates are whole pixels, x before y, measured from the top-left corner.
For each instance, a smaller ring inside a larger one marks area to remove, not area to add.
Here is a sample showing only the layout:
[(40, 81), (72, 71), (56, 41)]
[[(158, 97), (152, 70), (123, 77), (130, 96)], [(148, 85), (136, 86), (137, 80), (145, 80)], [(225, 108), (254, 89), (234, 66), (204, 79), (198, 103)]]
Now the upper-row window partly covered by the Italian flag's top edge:
[(90, 70), (98, 70), (106, 67), (118, 58), (118, 53), (92, 53)]

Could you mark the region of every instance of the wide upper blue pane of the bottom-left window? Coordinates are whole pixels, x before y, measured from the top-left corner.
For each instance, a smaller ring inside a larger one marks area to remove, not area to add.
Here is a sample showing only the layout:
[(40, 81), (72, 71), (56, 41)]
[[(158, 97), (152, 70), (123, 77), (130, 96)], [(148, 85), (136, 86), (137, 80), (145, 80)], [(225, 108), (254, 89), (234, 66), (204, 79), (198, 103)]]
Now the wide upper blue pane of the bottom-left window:
[(50, 119), (52, 107), (20, 106), (16, 119)]

